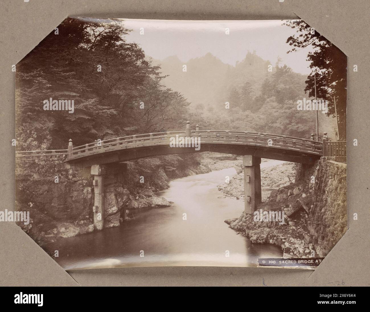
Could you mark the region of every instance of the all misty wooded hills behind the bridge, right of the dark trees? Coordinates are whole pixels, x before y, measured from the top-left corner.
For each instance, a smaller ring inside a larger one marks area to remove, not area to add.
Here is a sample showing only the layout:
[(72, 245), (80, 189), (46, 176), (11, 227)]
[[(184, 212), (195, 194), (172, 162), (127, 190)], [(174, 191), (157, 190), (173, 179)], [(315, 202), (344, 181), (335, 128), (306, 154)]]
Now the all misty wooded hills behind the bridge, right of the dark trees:
[[(162, 83), (191, 102), (192, 122), (203, 129), (285, 133), (307, 139), (315, 132), (316, 114), (296, 109), (298, 99), (309, 99), (304, 91), (307, 76), (279, 64), (280, 60), (272, 66), (248, 51), (235, 66), (211, 53), (188, 62), (171, 56), (153, 63), (161, 65), (163, 75), (169, 75)], [(320, 135), (328, 132), (333, 137), (332, 117), (320, 112), (319, 125)]]

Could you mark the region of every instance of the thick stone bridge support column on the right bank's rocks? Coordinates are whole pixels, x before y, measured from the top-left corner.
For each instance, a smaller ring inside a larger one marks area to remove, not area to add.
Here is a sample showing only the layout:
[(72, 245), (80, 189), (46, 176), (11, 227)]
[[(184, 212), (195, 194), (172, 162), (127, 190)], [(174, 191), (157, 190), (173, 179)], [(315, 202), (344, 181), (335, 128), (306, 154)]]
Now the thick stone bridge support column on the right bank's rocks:
[(260, 163), (260, 157), (243, 156), (244, 212), (247, 214), (255, 212), (257, 205), (262, 202)]

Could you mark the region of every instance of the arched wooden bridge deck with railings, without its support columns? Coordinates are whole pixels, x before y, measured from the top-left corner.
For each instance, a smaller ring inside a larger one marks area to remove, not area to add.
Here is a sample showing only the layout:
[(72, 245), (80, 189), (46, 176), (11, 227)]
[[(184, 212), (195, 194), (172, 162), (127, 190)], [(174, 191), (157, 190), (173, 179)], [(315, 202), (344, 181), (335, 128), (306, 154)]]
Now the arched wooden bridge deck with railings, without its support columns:
[[(200, 142), (200, 149), (194, 147), (171, 147), (174, 137), (193, 137)], [(346, 142), (324, 142), (269, 133), (196, 130), (191, 131), (189, 123), (185, 131), (145, 133), (140, 135), (97, 140), (90, 144), (73, 146), (70, 139), (68, 149), (16, 152), (23, 160), (40, 158), (61, 158), (66, 162), (79, 162), (90, 166), (112, 162), (125, 162), (150, 156), (195, 152), (219, 152), (233, 155), (286, 160), (297, 163), (313, 163), (320, 156), (346, 156)]]

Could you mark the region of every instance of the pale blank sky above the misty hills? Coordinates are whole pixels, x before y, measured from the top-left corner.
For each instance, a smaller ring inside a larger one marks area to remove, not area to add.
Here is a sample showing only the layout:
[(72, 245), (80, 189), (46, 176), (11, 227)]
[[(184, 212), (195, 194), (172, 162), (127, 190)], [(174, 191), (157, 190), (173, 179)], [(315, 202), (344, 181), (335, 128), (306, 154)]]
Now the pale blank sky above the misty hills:
[[(249, 50), (275, 65), (280, 56), (280, 66), (287, 64), (293, 71), (310, 72), (307, 47), (287, 54), (290, 49), (286, 39), (296, 31), (283, 26), (281, 20), (261, 21), (183, 21), (122, 19), (125, 27), (132, 29), (126, 39), (138, 43), (147, 56), (163, 60), (178, 56), (183, 62), (211, 52), (223, 63), (235, 65), (244, 59)], [(140, 34), (140, 28), (144, 34)], [(225, 34), (228, 27), (230, 34)]]

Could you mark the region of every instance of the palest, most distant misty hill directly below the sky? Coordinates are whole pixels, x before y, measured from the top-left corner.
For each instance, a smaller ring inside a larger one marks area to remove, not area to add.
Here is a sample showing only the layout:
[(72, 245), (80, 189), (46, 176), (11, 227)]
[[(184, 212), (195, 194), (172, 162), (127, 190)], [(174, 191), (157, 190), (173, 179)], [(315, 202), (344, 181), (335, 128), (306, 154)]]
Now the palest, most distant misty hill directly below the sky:
[[(192, 106), (224, 105), (230, 90), (233, 87), (241, 90), (246, 82), (250, 83), (253, 93), (258, 94), (263, 80), (272, 74), (268, 72), (270, 62), (250, 52), (235, 66), (223, 63), (211, 53), (188, 62), (169, 56), (162, 61), (153, 60), (153, 64), (160, 65), (162, 74), (169, 75), (162, 80), (166, 87), (184, 94)], [(183, 72), (183, 65), (186, 65), (186, 72)]]

